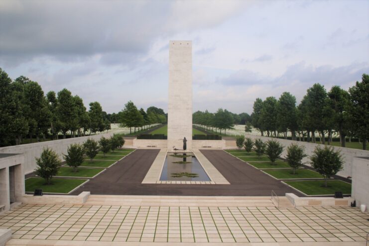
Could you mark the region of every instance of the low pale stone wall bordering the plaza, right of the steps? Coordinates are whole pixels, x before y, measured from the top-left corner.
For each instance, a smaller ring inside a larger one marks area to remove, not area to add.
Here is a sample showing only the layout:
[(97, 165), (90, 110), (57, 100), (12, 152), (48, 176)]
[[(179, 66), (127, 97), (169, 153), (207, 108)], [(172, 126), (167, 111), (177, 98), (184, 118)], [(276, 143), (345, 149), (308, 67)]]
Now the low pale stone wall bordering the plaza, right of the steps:
[(286, 198), (295, 207), (306, 206), (350, 206), (354, 201), (352, 197), (334, 198), (334, 197), (298, 197), (293, 193), (286, 193)]

